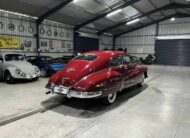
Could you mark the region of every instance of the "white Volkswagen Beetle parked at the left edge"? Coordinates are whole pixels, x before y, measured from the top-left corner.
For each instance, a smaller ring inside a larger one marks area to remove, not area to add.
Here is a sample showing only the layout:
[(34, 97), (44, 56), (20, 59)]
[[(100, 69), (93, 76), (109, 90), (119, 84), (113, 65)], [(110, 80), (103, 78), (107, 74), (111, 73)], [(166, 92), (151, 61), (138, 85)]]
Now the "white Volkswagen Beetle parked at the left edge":
[(40, 76), (37, 66), (27, 62), (23, 54), (0, 54), (0, 79), (14, 83), (16, 79), (34, 79)]

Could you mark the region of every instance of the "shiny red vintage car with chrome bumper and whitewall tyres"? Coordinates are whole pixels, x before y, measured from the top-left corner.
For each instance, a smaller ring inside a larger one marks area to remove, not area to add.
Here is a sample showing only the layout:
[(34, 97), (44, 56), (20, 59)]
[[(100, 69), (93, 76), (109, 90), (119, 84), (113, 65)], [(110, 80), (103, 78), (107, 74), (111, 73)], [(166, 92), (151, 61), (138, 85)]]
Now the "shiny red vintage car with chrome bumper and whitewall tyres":
[(131, 63), (127, 53), (92, 51), (73, 58), (54, 74), (46, 88), (49, 93), (71, 98), (103, 98), (115, 101), (117, 92), (133, 85), (142, 86), (147, 67)]

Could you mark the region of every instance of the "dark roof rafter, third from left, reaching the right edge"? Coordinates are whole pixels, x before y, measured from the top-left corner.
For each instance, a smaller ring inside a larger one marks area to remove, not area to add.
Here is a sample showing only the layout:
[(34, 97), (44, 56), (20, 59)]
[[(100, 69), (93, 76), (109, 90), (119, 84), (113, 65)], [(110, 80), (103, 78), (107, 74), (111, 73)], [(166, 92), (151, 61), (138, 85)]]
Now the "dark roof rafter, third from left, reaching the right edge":
[(118, 24), (115, 24), (115, 25), (113, 25), (113, 26), (107, 27), (107, 28), (105, 28), (105, 29), (99, 31), (97, 34), (98, 34), (98, 35), (101, 35), (101, 34), (103, 34), (104, 32), (107, 32), (107, 31), (112, 30), (112, 29), (114, 29), (114, 28), (117, 28), (117, 27), (119, 27), (119, 26), (125, 25), (127, 22), (130, 22), (130, 21), (132, 21), (132, 20), (135, 20), (135, 19), (138, 19), (138, 18), (147, 17), (147, 16), (149, 16), (149, 15), (151, 15), (151, 14), (153, 14), (153, 13), (159, 12), (159, 11), (161, 11), (161, 10), (174, 9), (174, 7), (175, 7), (175, 8), (190, 8), (190, 5), (187, 5), (187, 4), (179, 4), (179, 3), (167, 4), (167, 5), (165, 5), (165, 6), (162, 6), (162, 7), (158, 8), (158, 9), (155, 9), (155, 10), (149, 11), (149, 12), (147, 12), (147, 13), (144, 13), (144, 14), (142, 14), (142, 15), (140, 15), (140, 16), (137, 16), (137, 17), (135, 17), (135, 18), (132, 18), (132, 19), (129, 19), (129, 20), (125, 20), (125, 21), (122, 21), (122, 22), (120, 22), (120, 23), (118, 23)]

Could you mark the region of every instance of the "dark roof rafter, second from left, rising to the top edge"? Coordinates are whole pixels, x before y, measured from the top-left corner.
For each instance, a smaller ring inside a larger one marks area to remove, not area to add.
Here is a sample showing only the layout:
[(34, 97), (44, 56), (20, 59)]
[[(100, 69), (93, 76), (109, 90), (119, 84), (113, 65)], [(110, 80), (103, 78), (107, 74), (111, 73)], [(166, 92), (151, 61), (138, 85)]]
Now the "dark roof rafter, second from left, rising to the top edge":
[(126, 3), (122, 4), (122, 5), (120, 5), (120, 6), (116, 7), (116, 8), (114, 8), (113, 10), (109, 10), (109, 11), (107, 11), (107, 12), (105, 12), (105, 13), (102, 13), (102, 14), (96, 16), (96, 17), (93, 17), (93, 18), (91, 18), (91, 19), (89, 19), (89, 20), (86, 20), (85, 22), (76, 25), (76, 26), (74, 27), (74, 30), (78, 30), (78, 29), (80, 29), (81, 27), (83, 27), (83, 26), (85, 26), (85, 25), (87, 25), (87, 24), (89, 24), (89, 23), (92, 23), (92, 22), (95, 22), (95, 21), (97, 21), (97, 20), (99, 20), (99, 19), (101, 19), (101, 18), (104, 18), (104, 17), (105, 17), (106, 15), (108, 15), (109, 13), (112, 13), (112, 12), (118, 10), (118, 9), (123, 9), (123, 8), (125, 8), (125, 7), (127, 7), (127, 6), (130, 6), (130, 5), (132, 5), (132, 4), (134, 4), (134, 3), (138, 2), (138, 1), (140, 1), (140, 0), (131, 0), (130, 2), (126, 2)]

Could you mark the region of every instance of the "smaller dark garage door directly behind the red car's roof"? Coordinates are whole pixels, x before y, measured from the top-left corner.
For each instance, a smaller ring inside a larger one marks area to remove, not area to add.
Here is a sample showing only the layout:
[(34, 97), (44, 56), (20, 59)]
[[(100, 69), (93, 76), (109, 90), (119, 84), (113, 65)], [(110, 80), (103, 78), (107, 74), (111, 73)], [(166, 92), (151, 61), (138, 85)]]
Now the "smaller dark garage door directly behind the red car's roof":
[(99, 39), (77, 36), (76, 52), (93, 51), (99, 49)]

